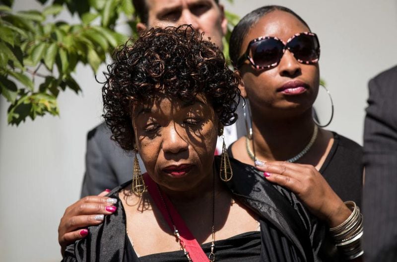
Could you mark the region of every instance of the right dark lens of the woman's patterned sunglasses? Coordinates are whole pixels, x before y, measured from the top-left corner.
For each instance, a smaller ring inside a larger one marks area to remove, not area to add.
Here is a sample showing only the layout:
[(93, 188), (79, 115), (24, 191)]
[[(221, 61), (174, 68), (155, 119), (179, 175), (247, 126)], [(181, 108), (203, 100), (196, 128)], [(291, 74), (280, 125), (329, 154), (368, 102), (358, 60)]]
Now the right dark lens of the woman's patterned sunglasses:
[(289, 51), (303, 63), (314, 63), (320, 57), (320, 44), (316, 36), (301, 34), (288, 43)]

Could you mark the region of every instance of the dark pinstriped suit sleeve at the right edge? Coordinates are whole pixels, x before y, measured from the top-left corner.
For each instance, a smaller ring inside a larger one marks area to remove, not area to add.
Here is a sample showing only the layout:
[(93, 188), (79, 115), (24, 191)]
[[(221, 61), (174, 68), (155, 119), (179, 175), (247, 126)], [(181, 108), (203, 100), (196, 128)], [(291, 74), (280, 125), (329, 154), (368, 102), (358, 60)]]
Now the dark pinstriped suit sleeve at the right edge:
[(397, 261), (397, 66), (369, 82), (364, 127), (366, 262)]

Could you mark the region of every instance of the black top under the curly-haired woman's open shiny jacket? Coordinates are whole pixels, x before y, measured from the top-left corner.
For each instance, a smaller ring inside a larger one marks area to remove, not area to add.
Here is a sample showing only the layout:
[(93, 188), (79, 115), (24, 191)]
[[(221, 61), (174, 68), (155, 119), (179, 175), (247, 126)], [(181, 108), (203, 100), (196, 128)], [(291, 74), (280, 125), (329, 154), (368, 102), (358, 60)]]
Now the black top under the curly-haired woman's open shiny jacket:
[[(130, 239), (126, 235), (126, 250), (123, 262), (186, 262), (183, 251), (165, 252), (137, 257)], [(201, 245), (202, 250), (208, 256), (211, 252), (211, 243)], [(261, 233), (247, 232), (228, 239), (215, 241), (215, 260), (227, 262), (260, 262)]]

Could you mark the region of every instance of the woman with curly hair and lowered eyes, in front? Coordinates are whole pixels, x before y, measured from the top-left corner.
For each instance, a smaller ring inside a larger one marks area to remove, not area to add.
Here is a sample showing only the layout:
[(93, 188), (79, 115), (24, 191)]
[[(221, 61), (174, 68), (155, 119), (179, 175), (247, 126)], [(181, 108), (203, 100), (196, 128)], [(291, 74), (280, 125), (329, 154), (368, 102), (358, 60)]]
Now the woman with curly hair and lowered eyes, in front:
[(136, 161), (132, 181), (108, 195), (112, 214), (64, 261), (314, 261), (330, 247), (289, 191), (226, 150), (214, 156), (240, 95), (214, 44), (189, 26), (150, 29), (116, 53), (106, 77), (105, 121), (147, 173)]

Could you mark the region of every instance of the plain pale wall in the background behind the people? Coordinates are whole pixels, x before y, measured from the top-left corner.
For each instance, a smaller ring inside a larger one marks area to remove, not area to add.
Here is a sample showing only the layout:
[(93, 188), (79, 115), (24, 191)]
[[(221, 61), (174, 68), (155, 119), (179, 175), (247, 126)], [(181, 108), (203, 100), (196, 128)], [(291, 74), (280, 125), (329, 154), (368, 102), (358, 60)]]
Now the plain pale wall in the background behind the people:
[[(222, 1), (222, 0), (221, 0)], [(34, 8), (16, 0), (16, 9)], [(245, 15), (271, 2), (235, 0), (226, 9)], [(321, 75), (335, 104), (331, 130), (361, 143), (367, 82), (397, 64), (396, 0), (279, 0), (301, 15), (321, 42)], [(78, 196), (86, 132), (100, 123), (101, 86), (90, 68), (76, 77), (83, 94), (60, 95), (61, 116), (6, 125), (0, 98), (0, 262), (61, 259), (58, 223)]]

